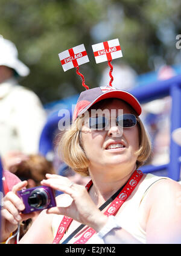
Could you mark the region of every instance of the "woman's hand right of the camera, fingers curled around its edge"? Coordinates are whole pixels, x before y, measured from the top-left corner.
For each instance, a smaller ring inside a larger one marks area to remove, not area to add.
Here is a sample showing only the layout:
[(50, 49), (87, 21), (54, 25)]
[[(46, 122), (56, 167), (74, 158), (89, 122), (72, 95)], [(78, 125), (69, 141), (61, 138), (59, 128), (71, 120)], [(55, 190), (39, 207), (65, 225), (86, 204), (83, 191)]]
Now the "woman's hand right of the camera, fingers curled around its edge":
[(46, 178), (47, 180), (41, 182), (42, 185), (69, 194), (73, 199), (71, 205), (60, 207), (59, 200), (61, 203), (62, 196), (60, 195), (60, 199), (57, 200), (57, 206), (46, 210), (47, 213), (61, 214), (71, 217), (77, 222), (91, 226), (95, 231), (99, 231), (105, 225), (107, 217), (98, 210), (85, 187), (78, 184), (72, 184), (68, 178), (56, 174), (46, 174)]

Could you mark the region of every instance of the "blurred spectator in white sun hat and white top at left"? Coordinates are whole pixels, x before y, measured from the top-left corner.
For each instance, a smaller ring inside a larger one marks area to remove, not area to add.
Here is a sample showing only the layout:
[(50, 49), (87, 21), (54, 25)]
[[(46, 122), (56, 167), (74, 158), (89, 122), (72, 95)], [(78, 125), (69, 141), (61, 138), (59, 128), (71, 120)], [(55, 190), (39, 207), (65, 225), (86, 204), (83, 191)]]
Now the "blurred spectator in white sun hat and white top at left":
[(46, 113), (39, 97), (19, 85), (29, 68), (18, 59), (17, 48), (0, 35), (0, 155), (38, 153)]

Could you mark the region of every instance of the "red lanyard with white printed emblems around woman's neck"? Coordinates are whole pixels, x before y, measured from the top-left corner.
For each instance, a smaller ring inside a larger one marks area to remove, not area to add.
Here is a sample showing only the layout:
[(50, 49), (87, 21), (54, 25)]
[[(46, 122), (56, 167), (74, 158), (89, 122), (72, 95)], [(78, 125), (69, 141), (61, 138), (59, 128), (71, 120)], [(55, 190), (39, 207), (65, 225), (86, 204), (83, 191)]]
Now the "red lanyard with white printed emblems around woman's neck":
[[(125, 200), (130, 196), (130, 194), (132, 194), (133, 190), (136, 188), (136, 185), (141, 180), (142, 175), (142, 171), (134, 171), (129, 181), (127, 181), (127, 184), (125, 184), (124, 188), (120, 191), (118, 196), (116, 196), (116, 198), (112, 201), (109, 208), (107, 208), (107, 210), (104, 212), (106, 216), (115, 215), (118, 212), (122, 203), (125, 202)], [(92, 181), (89, 181), (89, 183), (86, 185), (86, 189), (89, 190), (91, 185)], [(63, 235), (65, 234), (66, 229), (68, 229), (69, 225), (71, 225), (72, 220), (73, 219), (68, 216), (63, 217), (53, 243), (60, 242)], [(89, 228), (87, 231), (84, 232), (83, 235), (81, 235), (81, 237), (77, 241), (74, 242), (74, 244), (86, 243), (90, 239), (90, 237), (92, 237), (92, 235), (94, 235), (95, 233), (96, 231), (93, 228)]]

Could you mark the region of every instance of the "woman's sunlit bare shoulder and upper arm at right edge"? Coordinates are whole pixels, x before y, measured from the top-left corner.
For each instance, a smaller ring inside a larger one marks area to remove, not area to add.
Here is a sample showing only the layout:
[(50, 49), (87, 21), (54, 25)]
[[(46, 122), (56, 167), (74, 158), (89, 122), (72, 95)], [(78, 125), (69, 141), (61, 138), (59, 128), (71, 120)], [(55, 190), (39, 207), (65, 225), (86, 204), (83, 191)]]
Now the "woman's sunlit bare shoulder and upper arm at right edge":
[[(159, 179), (145, 198), (145, 230), (148, 243), (180, 243), (181, 185), (171, 179)], [(170, 235), (171, 234), (171, 235)]]

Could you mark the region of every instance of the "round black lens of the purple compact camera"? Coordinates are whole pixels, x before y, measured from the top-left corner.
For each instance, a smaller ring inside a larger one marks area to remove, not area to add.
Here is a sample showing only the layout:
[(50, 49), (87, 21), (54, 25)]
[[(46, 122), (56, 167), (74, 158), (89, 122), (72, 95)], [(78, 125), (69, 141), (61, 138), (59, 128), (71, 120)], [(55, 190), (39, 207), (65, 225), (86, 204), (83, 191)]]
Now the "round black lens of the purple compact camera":
[(28, 204), (31, 207), (43, 209), (49, 203), (49, 197), (43, 188), (33, 190), (30, 197), (28, 197)]

